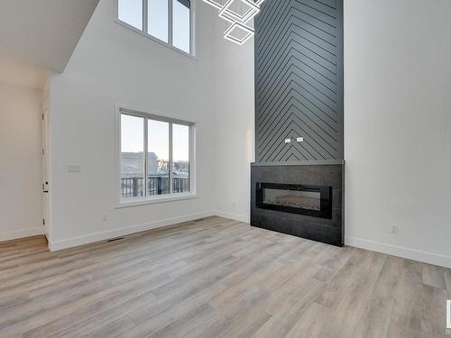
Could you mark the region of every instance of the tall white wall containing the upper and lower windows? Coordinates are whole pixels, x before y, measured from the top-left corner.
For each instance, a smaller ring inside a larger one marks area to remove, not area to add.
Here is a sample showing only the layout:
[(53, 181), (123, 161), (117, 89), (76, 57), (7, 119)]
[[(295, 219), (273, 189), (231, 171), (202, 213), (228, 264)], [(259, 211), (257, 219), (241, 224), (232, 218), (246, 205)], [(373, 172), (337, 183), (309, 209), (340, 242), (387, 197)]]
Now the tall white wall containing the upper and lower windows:
[[(101, 0), (65, 72), (52, 74), (51, 249), (214, 213), (216, 17), (201, 1), (197, 12), (190, 59), (115, 23), (114, 0)], [(197, 123), (197, 199), (115, 209), (116, 103)]]

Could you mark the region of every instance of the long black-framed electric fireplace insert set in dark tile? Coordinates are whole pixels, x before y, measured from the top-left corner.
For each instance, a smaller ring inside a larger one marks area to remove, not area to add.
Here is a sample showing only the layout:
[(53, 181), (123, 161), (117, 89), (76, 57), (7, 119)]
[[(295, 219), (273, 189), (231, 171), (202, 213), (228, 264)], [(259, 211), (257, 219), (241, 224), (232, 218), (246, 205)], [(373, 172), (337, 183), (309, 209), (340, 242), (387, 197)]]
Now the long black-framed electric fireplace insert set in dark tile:
[(255, 192), (259, 208), (332, 218), (332, 187), (258, 182)]

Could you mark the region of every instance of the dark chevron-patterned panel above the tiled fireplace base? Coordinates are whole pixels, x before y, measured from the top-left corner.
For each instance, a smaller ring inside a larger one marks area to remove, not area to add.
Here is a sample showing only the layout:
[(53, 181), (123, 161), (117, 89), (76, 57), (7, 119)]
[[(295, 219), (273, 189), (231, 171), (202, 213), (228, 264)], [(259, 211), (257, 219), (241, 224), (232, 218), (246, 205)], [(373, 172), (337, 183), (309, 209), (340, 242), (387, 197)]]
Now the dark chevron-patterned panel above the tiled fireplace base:
[(343, 159), (343, 0), (262, 4), (255, 100), (257, 162)]

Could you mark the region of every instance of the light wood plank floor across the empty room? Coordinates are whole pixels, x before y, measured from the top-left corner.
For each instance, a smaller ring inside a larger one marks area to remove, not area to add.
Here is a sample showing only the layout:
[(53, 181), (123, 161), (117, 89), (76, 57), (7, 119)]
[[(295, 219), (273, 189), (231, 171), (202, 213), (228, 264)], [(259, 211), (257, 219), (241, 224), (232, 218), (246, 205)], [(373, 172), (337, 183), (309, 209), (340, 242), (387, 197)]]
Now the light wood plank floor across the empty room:
[(0, 337), (442, 337), (451, 271), (211, 217), (0, 243)]

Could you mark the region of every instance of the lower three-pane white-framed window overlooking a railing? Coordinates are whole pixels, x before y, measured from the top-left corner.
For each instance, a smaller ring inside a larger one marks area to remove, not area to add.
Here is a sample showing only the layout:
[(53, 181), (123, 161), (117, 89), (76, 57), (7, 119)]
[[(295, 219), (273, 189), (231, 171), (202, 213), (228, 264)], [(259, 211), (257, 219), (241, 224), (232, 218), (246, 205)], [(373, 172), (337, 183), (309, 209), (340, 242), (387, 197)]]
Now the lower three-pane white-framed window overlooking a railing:
[(193, 123), (120, 109), (121, 202), (192, 193)]

